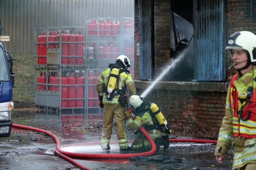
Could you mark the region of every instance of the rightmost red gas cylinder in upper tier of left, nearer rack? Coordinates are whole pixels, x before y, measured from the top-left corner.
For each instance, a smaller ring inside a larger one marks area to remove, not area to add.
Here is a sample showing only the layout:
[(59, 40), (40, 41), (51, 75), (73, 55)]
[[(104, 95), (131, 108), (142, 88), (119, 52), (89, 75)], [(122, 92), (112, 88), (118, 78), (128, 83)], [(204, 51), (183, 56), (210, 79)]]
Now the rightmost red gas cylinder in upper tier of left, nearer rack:
[[(76, 42), (83, 42), (83, 35), (81, 34), (81, 31), (78, 31), (78, 34), (76, 35)], [(83, 43), (76, 44), (76, 55), (83, 56)], [(76, 64), (83, 64), (83, 57), (76, 57)]]

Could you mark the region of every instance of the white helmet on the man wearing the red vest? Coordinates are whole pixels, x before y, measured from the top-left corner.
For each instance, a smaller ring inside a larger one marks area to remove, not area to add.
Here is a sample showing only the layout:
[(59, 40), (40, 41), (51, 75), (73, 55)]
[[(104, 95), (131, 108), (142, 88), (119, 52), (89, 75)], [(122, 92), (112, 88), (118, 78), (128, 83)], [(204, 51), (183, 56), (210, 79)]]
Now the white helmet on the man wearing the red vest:
[(239, 31), (230, 35), (226, 50), (230, 51), (232, 58), (232, 49), (245, 50), (250, 55), (250, 61), (256, 62), (256, 35), (250, 31)]

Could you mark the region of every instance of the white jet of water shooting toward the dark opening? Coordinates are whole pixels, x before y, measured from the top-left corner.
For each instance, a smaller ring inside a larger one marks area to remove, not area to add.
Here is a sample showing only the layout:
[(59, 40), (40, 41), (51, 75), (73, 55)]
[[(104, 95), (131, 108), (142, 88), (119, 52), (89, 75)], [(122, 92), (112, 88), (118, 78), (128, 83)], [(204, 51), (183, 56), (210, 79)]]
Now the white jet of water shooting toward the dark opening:
[(150, 86), (147, 88), (147, 90), (145, 90), (142, 94), (141, 94), (141, 97), (142, 98), (145, 98), (147, 96), (147, 94), (152, 90), (152, 88), (156, 85), (156, 83), (158, 83), (162, 78), (163, 76), (167, 73), (167, 71), (169, 71), (171, 68), (175, 68), (176, 64), (178, 62), (180, 62), (180, 60), (182, 60), (182, 58), (184, 57), (185, 53), (186, 53), (187, 50), (184, 50), (183, 53), (181, 53), (180, 55), (178, 55), (177, 58), (175, 59), (172, 59), (170, 61), (171, 65), (167, 66), (163, 72), (160, 74), (160, 76), (158, 76), (158, 78), (156, 80), (154, 80), (154, 82), (152, 84), (150, 84)]

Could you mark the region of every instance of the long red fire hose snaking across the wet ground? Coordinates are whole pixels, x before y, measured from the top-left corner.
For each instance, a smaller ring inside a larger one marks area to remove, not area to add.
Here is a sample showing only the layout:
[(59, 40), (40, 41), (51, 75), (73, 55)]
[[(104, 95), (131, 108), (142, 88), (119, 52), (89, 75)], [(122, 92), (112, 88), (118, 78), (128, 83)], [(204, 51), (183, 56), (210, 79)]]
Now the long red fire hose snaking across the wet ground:
[[(143, 126), (140, 127), (140, 130), (147, 137), (149, 143), (152, 146), (152, 149), (148, 152), (129, 153), (129, 154), (86, 154), (86, 153), (67, 152), (61, 149), (61, 143), (59, 141), (59, 138), (51, 132), (48, 132), (46, 130), (39, 129), (39, 128), (20, 125), (20, 124), (13, 124), (13, 127), (46, 133), (47, 135), (52, 137), (56, 143), (56, 149), (54, 150), (54, 154), (69, 161), (70, 163), (79, 167), (82, 170), (91, 170), (91, 169), (87, 168), (86, 166), (83, 166), (82, 164), (78, 163), (77, 161), (75, 161), (70, 157), (97, 158), (97, 159), (123, 159), (123, 158), (130, 158), (130, 157), (136, 157), (136, 156), (150, 156), (156, 152), (156, 144), (154, 143), (154, 140), (150, 137), (150, 135), (147, 133), (147, 131), (143, 128)], [(217, 143), (217, 141), (213, 141), (213, 140), (200, 140), (200, 139), (169, 139), (169, 142)]]

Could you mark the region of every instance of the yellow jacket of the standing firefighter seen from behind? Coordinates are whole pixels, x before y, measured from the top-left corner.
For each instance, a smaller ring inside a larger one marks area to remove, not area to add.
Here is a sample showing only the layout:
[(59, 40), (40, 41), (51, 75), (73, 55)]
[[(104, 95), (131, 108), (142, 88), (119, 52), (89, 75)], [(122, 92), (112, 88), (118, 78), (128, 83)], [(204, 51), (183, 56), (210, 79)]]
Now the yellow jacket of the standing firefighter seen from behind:
[[(118, 68), (118, 69), (121, 70), (122, 68)], [(98, 95), (99, 96), (103, 95), (103, 104), (118, 104), (119, 103), (118, 99), (120, 95), (116, 95), (113, 98), (113, 100), (108, 101), (106, 98), (106, 93), (104, 93), (104, 88), (107, 88), (108, 86), (110, 70), (111, 69), (108, 68), (102, 71), (96, 87), (97, 87)], [(132, 80), (132, 75), (128, 71), (124, 71), (122, 73), (120, 73), (119, 71), (119, 80), (117, 81), (118, 82), (115, 85), (115, 89), (125, 90), (125, 86), (126, 86), (129, 90), (129, 93), (131, 95), (135, 95), (136, 93), (135, 84), (134, 84), (134, 81)]]

